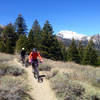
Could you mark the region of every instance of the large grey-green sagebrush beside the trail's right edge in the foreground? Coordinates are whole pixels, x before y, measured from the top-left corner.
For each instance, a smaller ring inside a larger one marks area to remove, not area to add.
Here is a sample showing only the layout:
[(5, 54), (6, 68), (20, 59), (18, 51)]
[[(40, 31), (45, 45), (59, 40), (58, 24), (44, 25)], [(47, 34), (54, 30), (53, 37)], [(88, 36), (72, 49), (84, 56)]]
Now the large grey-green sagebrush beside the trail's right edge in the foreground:
[(78, 98), (85, 94), (85, 89), (80, 84), (67, 80), (60, 74), (57, 74), (51, 81), (57, 96), (64, 100), (80, 100)]

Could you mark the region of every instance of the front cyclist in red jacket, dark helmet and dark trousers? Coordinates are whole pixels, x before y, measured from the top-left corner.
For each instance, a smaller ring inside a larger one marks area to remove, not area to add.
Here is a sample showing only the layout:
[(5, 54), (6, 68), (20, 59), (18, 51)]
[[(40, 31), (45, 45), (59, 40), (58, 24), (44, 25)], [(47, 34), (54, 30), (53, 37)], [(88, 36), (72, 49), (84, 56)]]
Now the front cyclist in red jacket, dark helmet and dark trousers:
[(29, 55), (29, 62), (32, 64), (32, 72), (34, 73), (34, 77), (38, 78), (39, 80), (39, 69), (38, 69), (38, 59), (39, 57), (40, 62), (42, 62), (42, 57), (40, 53), (37, 51), (37, 48), (33, 48), (32, 52)]

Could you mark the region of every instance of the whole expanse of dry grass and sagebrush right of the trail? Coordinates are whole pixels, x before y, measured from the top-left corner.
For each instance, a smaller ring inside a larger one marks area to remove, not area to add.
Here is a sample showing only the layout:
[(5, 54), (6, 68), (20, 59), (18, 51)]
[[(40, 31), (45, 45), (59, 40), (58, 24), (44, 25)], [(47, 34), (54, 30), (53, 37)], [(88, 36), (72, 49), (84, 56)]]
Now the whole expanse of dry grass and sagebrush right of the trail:
[(47, 79), (59, 100), (100, 100), (100, 68), (44, 59)]

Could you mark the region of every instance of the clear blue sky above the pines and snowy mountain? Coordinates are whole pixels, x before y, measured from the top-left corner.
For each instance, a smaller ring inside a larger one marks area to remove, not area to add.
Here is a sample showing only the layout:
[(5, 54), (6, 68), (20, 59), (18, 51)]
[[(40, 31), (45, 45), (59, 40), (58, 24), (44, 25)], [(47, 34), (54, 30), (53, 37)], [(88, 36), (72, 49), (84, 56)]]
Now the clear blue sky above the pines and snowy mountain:
[(14, 23), (22, 14), (28, 29), (35, 19), (41, 26), (49, 20), (54, 33), (72, 30), (94, 35), (100, 33), (100, 0), (1, 0), (0, 24)]

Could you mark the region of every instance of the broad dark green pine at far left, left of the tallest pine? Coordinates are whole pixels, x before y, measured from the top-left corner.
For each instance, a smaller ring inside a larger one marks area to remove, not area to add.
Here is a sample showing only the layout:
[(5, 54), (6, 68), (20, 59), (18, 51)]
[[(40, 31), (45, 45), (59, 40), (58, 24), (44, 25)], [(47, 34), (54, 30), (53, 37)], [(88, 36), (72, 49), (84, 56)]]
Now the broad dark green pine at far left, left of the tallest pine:
[(10, 23), (4, 28), (2, 32), (1, 44), (3, 46), (1, 46), (1, 48), (3, 50), (5, 49), (4, 52), (6, 53), (14, 53), (16, 40), (17, 40), (16, 32), (14, 30), (13, 25)]

